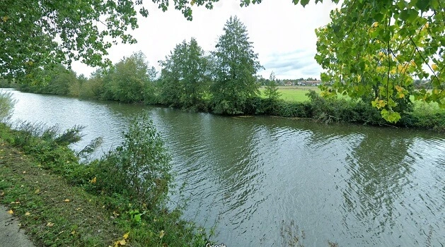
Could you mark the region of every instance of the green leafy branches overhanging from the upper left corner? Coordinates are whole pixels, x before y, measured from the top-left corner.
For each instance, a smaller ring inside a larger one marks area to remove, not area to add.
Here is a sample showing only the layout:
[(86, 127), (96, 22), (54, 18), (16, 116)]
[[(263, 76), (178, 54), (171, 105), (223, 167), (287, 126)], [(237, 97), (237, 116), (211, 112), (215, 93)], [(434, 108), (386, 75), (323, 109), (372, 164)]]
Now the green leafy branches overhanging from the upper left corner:
[[(152, 0), (163, 11), (168, 0)], [(174, 1), (192, 20), (191, 6), (212, 8), (209, 0)], [(0, 76), (22, 83), (40, 83), (44, 68), (70, 67), (72, 60), (110, 66), (107, 50), (118, 42), (137, 42), (129, 34), (137, 13), (148, 16), (142, 0), (3, 0), (0, 2)], [(57, 42), (56, 42), (57, 41)]]

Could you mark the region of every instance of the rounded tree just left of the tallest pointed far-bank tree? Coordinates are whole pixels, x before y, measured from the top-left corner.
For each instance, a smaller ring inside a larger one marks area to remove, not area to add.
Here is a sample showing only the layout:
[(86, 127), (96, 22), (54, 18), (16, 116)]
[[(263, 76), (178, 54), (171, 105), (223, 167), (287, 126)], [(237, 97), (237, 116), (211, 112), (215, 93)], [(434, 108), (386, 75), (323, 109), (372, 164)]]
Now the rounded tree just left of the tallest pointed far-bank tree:
[(209, 61), (195, 38), (177, 44), (161, 66), (164, 104), (189, 108), (202, 101), (209, 88)]

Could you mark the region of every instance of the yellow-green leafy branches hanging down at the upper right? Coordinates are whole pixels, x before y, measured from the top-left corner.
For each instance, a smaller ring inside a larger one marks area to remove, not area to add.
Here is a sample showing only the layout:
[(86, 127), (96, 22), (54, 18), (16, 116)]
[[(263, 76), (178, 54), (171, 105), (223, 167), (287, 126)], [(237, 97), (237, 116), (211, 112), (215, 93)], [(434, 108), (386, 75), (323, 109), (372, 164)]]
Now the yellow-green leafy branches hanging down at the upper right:
[[(424, 1), (349, 1), (316, 30), (322, 89), (370, 102), (395, 122), (415, 100), (445, 107), (445, 4)], [(424, 69), (426, 68), (426, 69)], [(414, 88), (429, 80), (431, 91)]]

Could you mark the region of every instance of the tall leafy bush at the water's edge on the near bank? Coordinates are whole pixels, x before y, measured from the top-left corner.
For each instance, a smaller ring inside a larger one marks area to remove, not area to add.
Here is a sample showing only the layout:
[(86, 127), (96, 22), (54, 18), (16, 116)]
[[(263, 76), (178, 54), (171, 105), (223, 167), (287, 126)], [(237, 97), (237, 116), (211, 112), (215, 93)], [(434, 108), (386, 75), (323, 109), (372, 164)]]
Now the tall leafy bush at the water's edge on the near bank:
[(165, 203), (171, 186), (171, 157), (145, 114), (134, 119), (122, 145), (96, 164), (99, 191), (124, 193), (140, 205), (156, 208)]

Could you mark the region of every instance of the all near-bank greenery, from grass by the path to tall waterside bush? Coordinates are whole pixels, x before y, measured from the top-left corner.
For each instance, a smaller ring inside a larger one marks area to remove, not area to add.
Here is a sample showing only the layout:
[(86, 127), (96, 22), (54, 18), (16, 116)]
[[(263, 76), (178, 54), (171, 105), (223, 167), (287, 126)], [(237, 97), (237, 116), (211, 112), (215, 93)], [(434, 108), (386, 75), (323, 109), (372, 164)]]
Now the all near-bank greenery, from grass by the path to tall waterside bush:
[[(0, 95), (5, 121), (13, 101)], [(168, 207), (170, 157), (147, 116), (135, 119), (122, 145), (104, 157), (85, 157), (68, 145), (81, 127), (0, 123), (0, 203), (21, 219), (37, 246), (204, 246), (204, 229)], [(84, 159), (81, 159), (83, 157)]]

